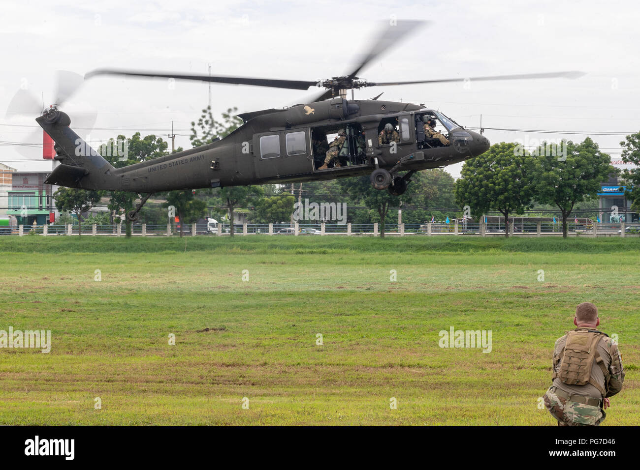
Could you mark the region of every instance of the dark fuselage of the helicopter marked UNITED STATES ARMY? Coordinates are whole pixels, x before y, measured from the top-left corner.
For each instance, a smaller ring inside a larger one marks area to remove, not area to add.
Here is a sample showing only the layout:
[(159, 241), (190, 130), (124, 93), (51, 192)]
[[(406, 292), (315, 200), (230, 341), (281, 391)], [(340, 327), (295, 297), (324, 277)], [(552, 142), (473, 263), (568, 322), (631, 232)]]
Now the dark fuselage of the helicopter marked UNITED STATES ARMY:
[[(424, 136), (422, 116), (426, 115), (435, 116), (445, 128), (441, 131), (448, 135), (449, 145)], [(444, 114), (410, 103), (334, 98), (240, 117), (244, 125), (223, 139), (124, 168), (88, 168), (74, 187), (159, 192), (328, 180), (368, 175), (375, 168), (390, 169), (408, 155), (415, 158), (403, 170), (438, 168), (481, 155), (490, 146), (486, 137), (463, 129)], [(397, 142), (379, 143), (386, 123), (397, 129)], [(347, 135), (336, 160), (342, 164), (321, 170), (339, 129)], [(71, 149), (56, 143), (58, 160), (83, 166), (83, 157), (66, 158), (64, 154)]]

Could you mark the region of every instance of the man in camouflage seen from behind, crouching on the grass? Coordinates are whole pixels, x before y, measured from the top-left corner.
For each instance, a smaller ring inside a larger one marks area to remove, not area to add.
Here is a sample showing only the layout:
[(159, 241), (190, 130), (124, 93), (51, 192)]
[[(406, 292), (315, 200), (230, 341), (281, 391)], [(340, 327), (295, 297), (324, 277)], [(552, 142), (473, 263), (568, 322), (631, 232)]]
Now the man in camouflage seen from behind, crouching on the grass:
[(622, 357), (616, 343), (596, 329), (600, 318), (594, 304), (579, 304), (573, 324), (577, 328), (556, 341), (545, 407), (558, 426), (599, 426), (609, 397), (622, 389)]

